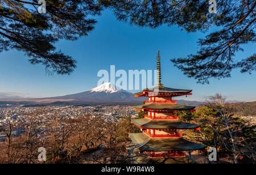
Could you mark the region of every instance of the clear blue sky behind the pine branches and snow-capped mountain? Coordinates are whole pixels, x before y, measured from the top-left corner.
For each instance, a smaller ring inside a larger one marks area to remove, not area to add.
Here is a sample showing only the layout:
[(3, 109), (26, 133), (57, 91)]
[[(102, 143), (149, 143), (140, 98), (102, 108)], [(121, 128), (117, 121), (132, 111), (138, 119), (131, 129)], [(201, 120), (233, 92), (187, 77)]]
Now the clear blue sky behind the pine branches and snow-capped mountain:
[[(44, 66), (31, 65), (22, 52), (0, 53), (0, 92), (21, 93), (29, 97), (79, 93), (97, 86), (98, 70), (109, 70), (110, 65), (125, 70), (155, 69), (159, 49), (163, 84), (193, 89), (193, 95), (185, 99), (204, 101), (209, 95), (221, 93), (229, 100), (256, 101), (256, 73), (241, 74), (234, 70), (231, 78), (213, 78), (209, 85), (201, 85), (172, 65), (172, 58), (196, 53), (197, 39), (205, 34), (187, 33), (176, 26), (156, 29), (130, 26), (118, 22), (109, 11), (103, 12), (97, 20), (96, 28), (89, 36), (77, 41), (61, 40), (56, 44), (58, 49), (77, 60), (77, 68), (69, 76), (48, 76)], [(256, 44), (244, 45), (244, 51), (237, 53), (237, 59), (253, 55), (255, 48)]]

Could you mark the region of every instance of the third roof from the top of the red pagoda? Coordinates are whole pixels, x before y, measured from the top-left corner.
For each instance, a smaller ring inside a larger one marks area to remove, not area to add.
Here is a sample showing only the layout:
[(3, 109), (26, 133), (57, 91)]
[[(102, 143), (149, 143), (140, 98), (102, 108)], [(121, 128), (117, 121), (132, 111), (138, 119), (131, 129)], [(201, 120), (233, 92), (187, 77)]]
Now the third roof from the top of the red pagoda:
[(194, 129), (200, 127), (198, 124), (192, 124), (192, 123), (185, 123), (180, 122), (179, 120), (174, 119), (168, 119), (168, 120), (155, 120), (155, 119), (131, 119), (131, 122), (133, 122), (138, 127), (143, 128), (152, 128), (152, 129), (171, 129), (171, 128), (177, 128), (177, 129)]

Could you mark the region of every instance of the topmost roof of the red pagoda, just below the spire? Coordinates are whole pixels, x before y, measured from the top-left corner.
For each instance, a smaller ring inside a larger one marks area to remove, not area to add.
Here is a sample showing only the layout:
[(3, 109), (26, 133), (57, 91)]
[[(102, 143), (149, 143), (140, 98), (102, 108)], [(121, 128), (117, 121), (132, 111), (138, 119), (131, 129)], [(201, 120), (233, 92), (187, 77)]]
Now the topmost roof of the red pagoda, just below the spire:
[(143, 91), (139, 93), (135, 93), (135, 97), (139, 97), (143, 94), (144, 91), (148, 92), (156, 92), (156, 93), (175, 93), (175, 94), (187, 94), (191, 93), (192, 90), (186, 90), (186, 89), (174, 89), (170, 87), (161, 87), (161, 86), (156, 86), (151, 89), (144, 89)]

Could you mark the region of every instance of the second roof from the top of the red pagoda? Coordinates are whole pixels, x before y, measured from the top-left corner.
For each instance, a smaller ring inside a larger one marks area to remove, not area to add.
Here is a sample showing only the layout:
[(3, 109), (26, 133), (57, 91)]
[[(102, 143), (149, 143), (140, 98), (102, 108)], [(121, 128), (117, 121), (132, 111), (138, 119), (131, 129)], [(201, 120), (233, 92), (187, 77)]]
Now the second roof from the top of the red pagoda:
[(147, 103), (143, 105), (133, 106), (134, 109), (152, 109), (152, 110), (193, 110), (195, 106), (168, 104), (168, 103)]

